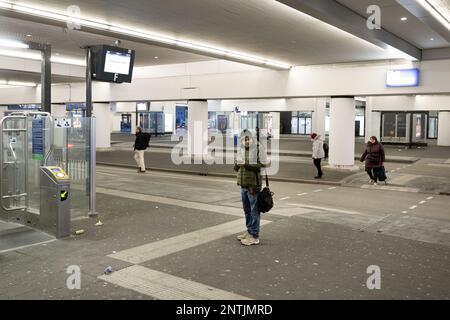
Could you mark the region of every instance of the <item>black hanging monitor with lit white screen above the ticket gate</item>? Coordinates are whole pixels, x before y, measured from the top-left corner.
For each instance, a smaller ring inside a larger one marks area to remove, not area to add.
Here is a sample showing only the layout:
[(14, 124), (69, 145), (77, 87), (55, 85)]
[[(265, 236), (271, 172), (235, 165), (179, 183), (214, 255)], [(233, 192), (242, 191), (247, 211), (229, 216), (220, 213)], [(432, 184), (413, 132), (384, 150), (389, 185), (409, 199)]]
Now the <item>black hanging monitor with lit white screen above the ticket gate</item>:
[(135, 51), (101, 45), (91, 47), (92, 80), (105, 82), (131, 82)]

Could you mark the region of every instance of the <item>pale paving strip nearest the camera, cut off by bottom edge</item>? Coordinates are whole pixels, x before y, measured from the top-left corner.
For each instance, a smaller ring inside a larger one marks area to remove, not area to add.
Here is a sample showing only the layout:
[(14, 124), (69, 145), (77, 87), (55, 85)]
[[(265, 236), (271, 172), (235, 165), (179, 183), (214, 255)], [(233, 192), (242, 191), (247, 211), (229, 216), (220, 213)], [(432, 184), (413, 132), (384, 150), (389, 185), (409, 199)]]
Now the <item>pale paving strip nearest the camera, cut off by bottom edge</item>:
[(99, 279), (160, 300), (251, 300), (142, 266), (131, 266)]

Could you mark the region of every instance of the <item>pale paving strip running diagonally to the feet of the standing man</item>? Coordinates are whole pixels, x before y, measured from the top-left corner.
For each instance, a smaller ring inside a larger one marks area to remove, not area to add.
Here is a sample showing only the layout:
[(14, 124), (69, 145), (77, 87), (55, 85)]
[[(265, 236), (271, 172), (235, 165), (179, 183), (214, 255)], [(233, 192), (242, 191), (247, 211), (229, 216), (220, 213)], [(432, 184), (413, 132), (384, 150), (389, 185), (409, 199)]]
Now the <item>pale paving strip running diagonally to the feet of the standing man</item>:
[[(261, 226), (271, 221), (261, 220)], [(229, 237), (245, 230), (243, 219), (234, 220), (217, 226), (181, 234), (176, 237), (156, 241), (142, 246), (126, 249), (108, 257), (139, 264), (145, 261), (163, 257), (175, 252), (186, 250), (205, 243)]]

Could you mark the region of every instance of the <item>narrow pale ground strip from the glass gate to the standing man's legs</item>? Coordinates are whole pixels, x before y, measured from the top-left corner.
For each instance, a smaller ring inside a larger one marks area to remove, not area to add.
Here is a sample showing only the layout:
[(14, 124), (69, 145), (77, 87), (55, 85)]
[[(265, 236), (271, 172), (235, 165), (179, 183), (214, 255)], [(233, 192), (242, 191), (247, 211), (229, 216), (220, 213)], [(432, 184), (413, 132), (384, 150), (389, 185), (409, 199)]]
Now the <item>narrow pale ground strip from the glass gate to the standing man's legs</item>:
[(135, 199), (135, 200), (149, 201), (149, 202), (157, 202), (157, 203), (162, 203), (162, 204), (167, 204), (167, 205), (172, 205), (172, 206), (179, 206), (179, 207), (183, 207), (183, 208), (228, 214), (228, 215), (232, 215), (232, 216), (236, 216), (236, 217), (243, 216), (243, 211), (241, 208), (225, 207), (225, 206), (218, 206), (218, 205), (207, 204), (207, 203), (165, 198), (165, 197), (123, 191), (123, 190), (107, 189), (107, 188), (102, 188), (102, 187), (97, 187), (97, 192), (103, 193), (103, 194), (108, 194), (111, 196), (121, 197), (121, 198), (128, 198), (128, 199)]

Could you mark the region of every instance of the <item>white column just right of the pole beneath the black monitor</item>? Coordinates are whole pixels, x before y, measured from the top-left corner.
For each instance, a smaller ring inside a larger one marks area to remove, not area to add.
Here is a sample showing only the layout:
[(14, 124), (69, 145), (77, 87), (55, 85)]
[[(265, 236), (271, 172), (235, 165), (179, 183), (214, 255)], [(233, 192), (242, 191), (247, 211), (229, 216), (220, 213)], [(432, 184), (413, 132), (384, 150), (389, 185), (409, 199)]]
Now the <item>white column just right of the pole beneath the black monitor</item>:
[(94, 103), (92, 114), (96, 118), (96, 147), (110, 148), (112, 112), (109, 103)]

